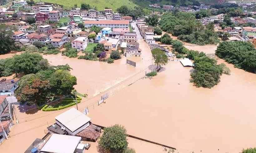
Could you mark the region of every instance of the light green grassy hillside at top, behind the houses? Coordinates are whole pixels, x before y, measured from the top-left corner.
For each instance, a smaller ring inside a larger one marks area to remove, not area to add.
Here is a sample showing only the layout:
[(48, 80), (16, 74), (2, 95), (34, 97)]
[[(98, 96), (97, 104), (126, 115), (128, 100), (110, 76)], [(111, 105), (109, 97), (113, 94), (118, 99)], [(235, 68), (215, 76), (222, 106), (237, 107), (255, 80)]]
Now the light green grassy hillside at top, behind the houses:
[(118, 7), (126, 5), (127, 7), (133, 8), (136, 6), (133, 2), (129, 0), (35, 0), (35, 2), (50, 2), (63, 5), (64, 8), (71, 8), (77, 4), (78, 7), (81, 6), (81, 3), (90, 4), (91, 7), (96, 7), (97, 10), (104, 10), (105, 7), (113, 9), (116, 11)]

